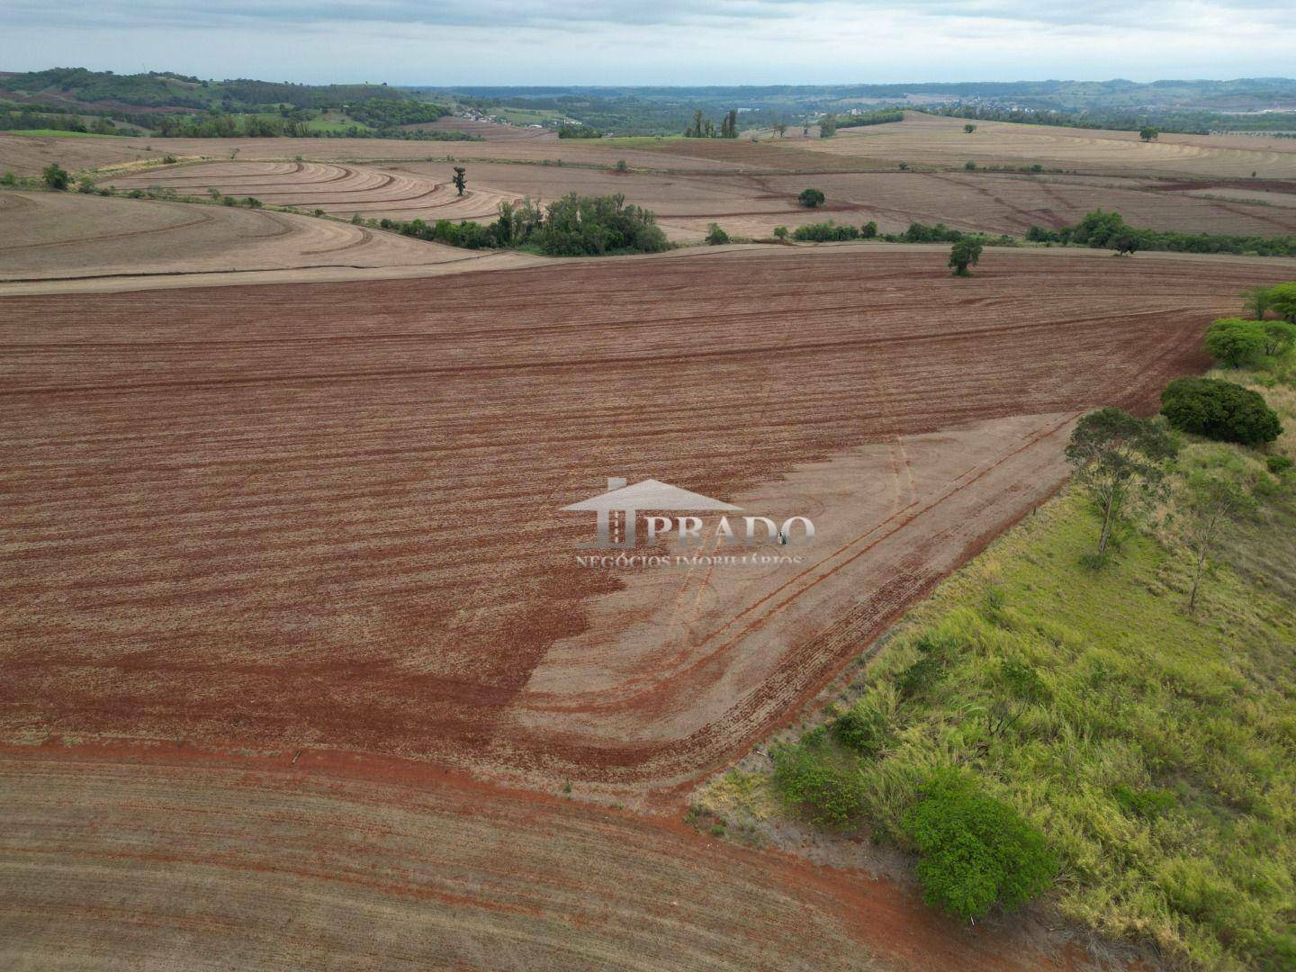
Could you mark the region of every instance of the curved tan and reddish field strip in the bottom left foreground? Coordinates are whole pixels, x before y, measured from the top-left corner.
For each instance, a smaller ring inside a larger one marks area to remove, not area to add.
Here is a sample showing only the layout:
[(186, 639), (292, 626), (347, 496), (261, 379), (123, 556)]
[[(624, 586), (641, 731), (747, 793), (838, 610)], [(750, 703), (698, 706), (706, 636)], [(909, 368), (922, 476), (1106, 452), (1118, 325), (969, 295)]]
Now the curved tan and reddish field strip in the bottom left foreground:
[(428, 770), (29, 750), (0, 792), (8, 969), (1061, 967), (862, 874)]

